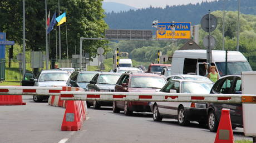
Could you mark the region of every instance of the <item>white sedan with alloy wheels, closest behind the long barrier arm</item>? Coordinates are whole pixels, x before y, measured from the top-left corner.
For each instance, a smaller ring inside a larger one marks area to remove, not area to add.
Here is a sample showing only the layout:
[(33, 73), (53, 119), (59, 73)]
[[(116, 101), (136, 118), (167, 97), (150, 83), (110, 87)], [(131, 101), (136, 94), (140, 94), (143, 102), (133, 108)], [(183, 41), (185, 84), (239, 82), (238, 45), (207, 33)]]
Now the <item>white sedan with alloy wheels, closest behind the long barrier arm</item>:
[[(165, 84), (159, 92), (209, 94), (213, 84), (211, 81), (174, 79)], [(151, 102), (150, 109), (154, 121), (172, 118), (177, 119), (180, 125), (187, 125), (190, 121), (206, 125), (207, 121), (206, 103)]]

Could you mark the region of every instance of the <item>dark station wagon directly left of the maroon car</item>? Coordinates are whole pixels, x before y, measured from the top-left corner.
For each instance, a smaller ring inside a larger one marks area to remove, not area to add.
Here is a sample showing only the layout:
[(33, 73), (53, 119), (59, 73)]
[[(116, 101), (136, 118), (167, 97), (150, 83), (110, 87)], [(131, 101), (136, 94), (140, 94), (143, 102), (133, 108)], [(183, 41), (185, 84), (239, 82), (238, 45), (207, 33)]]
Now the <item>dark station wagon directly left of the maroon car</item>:
[[(90, 84), (87, 85), (88, 91), (108, 91), (115, 90), (116, 81), (121, 76), (120, 73), (102, 72), (93, 76)], [(100, 109), (101, 106), (112, 106), (112, 101), (88, 101), (87, 106), (93, 105), (94, 109)]]

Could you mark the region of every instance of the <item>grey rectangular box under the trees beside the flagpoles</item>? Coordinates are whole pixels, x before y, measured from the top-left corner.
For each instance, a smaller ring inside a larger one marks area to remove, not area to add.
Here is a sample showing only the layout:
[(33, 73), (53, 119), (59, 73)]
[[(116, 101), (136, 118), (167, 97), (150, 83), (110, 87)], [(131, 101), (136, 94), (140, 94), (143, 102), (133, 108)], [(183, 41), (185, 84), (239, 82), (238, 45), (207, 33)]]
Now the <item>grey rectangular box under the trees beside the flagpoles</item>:
[(43, 68), (43, 53), (41, 51), (31, 52), (31, 68)]

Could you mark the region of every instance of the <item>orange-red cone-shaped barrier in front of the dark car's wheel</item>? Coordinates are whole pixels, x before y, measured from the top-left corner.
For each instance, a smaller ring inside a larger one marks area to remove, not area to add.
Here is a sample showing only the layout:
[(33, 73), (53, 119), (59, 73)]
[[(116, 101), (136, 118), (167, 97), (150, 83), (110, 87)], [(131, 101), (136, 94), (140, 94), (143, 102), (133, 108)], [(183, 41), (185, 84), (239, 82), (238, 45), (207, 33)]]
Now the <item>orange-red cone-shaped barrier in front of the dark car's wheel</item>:
[(234, 142), (233, 130), (229, 115), (229, 109), (223, 108), (221, 110), (221, 117), (218, 126), (218, 131), (215, 137), (215, 143), (225, 142), (231, 143)]

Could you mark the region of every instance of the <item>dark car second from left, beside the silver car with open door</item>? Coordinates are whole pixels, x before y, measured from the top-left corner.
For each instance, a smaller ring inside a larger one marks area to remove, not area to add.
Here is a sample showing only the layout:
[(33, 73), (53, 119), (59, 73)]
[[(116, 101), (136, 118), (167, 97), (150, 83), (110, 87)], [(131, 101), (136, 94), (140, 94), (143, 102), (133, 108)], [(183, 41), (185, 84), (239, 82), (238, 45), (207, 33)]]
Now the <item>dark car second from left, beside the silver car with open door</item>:
[(88, 91), (87, 85), (92, 80), (93, 76), (99, 72), (93, 71), (75, 71), (67, 80), (67, 86), (80, 87)]

